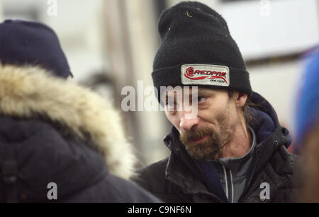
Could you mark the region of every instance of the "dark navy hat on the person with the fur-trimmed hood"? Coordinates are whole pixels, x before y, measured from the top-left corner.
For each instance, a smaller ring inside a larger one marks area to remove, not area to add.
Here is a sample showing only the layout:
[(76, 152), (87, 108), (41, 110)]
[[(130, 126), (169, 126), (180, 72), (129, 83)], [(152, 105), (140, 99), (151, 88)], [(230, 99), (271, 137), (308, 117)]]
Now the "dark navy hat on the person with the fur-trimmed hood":
[(2, 64), (39, 65), (55, 76), (72, 76), (55, 32), (42, 23), (5, 20), (0, 23)]

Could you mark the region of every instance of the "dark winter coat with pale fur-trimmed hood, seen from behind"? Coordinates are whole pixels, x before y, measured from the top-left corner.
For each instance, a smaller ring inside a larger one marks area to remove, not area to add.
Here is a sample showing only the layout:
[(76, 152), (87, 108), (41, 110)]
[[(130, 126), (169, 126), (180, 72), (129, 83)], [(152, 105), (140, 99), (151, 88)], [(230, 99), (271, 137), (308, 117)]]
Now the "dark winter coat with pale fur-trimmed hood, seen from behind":
[(0, 64), (1, 202), (159, 201), (124, 180), (134, 159), (111, 103), (43, 69)]

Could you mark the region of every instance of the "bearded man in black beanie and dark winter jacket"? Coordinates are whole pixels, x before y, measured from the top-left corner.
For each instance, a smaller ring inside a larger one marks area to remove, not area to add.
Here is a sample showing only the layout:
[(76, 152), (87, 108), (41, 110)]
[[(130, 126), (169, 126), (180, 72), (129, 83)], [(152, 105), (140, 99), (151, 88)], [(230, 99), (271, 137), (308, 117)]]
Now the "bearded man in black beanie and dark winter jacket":
[(291, 201), (297, 158), (286, 149), (289, 131), (252, 91), (225, 20), (184, 1), (163, 11), (158, 30), (152, 79), (173, 125), (164, 138), (171, 154), (133, 180), (167, 202)]

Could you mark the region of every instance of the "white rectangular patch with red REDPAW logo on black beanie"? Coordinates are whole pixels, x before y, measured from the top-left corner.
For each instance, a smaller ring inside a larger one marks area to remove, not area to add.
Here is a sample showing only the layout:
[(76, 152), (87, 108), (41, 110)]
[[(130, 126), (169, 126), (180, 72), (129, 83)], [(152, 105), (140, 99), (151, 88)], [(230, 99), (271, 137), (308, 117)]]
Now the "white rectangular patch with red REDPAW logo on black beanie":
[(227, 66), (209, 64), (181, 65), (181, 83), (185, 85), (229, 86)]

